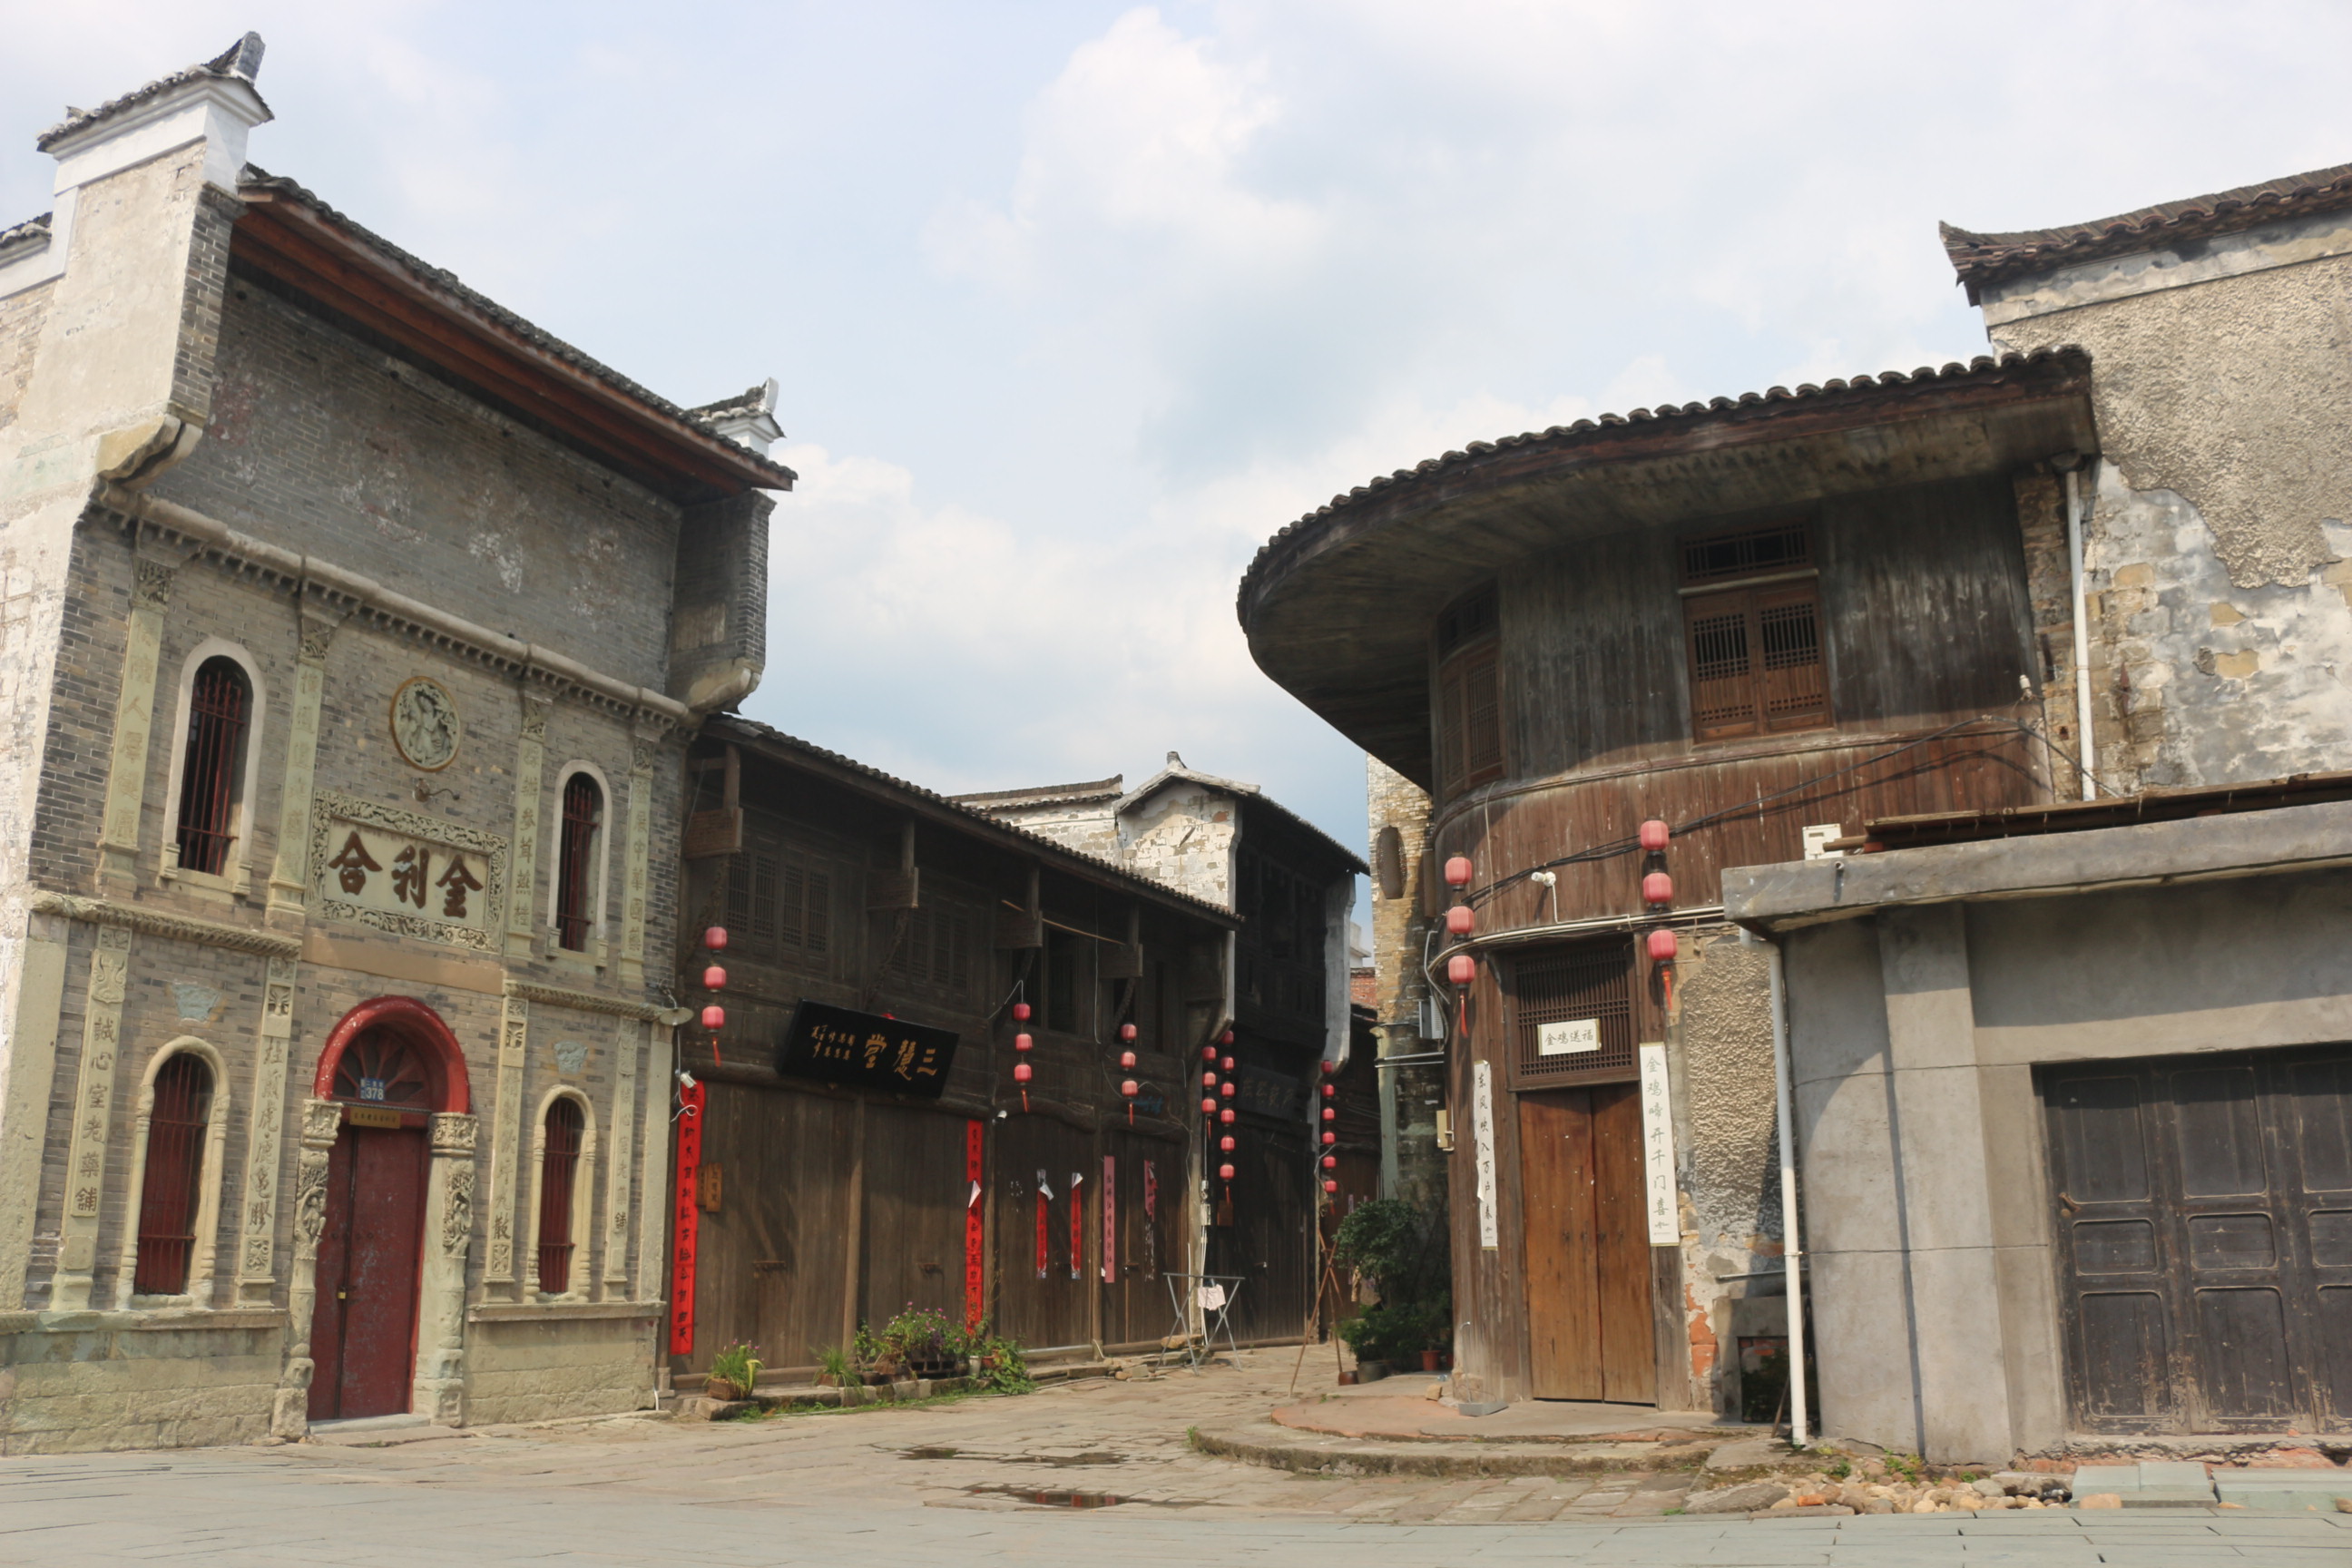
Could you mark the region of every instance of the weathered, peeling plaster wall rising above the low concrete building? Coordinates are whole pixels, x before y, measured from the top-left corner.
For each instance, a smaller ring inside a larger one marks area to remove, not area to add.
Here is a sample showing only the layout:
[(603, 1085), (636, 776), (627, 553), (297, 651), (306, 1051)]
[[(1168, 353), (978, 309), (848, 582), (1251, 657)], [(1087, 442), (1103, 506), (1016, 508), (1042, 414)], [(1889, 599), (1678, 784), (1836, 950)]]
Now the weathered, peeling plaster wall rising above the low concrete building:
[(2112, 790), (2352, 759), (2352, 256), (2267, 230), (2232, 254), (2091, 263), (1987, 301), (2002, 348), (2091, 350)]

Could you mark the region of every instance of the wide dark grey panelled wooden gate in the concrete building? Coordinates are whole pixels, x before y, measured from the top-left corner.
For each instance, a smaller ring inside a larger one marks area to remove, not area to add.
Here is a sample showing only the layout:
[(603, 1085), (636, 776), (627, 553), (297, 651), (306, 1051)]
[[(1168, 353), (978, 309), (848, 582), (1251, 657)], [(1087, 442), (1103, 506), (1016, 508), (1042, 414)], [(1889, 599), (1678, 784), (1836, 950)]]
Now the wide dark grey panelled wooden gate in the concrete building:
[(2077, 1429), (2352, 1429), (2352, 1048), (2039, 1086)]

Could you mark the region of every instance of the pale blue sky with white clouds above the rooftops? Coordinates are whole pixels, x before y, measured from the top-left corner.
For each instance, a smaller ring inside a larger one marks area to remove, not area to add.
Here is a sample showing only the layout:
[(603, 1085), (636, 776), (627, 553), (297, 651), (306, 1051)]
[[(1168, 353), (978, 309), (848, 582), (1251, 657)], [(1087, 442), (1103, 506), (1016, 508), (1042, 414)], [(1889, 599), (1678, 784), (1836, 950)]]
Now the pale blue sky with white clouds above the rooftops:
[(245, 28), (261, 167), (680, 402), (779, 378), (753, 717), (938, 790), (1174, 748), (1350, 844), (1232, 616), (1284, 522), (1976, 355), (1938, 219), (2352, 160), (2343, 0), (0, 0), (0, 221), (64, 103)]

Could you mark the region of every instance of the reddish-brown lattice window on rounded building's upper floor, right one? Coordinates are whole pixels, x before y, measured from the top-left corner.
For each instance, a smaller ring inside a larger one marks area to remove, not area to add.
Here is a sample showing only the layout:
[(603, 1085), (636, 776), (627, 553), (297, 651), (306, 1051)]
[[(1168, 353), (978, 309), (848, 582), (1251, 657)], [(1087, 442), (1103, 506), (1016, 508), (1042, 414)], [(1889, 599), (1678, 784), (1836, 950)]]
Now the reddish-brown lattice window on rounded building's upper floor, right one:
[[(1804, 527), (1686, 541), (1682, 571), (1691, 736), (1733, 741), (1830, 724), (1820, 583)], [(1729, 578), (1750, 583), (1715, 588)]]

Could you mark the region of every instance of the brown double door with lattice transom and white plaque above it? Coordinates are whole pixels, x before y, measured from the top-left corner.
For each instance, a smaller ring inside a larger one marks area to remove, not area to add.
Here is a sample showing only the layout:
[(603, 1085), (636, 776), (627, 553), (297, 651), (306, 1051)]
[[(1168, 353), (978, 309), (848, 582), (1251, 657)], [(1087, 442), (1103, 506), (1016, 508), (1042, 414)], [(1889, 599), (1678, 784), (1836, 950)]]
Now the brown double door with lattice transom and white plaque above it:
[(1534, 947), (1508, 983), (1529, 1389), (1658, 1396), (1642, 1204), (1642, 1006), (1628, 936)]

